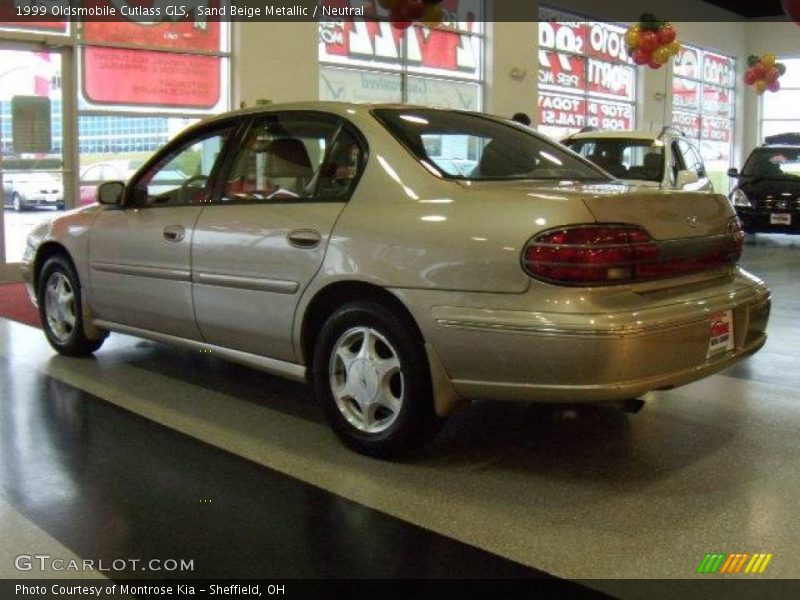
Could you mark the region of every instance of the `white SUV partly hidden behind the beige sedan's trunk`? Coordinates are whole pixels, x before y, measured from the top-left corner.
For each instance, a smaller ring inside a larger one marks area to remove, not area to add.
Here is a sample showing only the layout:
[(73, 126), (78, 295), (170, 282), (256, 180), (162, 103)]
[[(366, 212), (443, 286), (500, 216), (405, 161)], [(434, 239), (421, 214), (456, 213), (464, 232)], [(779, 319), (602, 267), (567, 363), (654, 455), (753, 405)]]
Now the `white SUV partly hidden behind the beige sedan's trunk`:
[(626, 183), (664, 190), (714, 191), (697, 147), (670, 127), (660, 132), (582, 131), (563, 143)]

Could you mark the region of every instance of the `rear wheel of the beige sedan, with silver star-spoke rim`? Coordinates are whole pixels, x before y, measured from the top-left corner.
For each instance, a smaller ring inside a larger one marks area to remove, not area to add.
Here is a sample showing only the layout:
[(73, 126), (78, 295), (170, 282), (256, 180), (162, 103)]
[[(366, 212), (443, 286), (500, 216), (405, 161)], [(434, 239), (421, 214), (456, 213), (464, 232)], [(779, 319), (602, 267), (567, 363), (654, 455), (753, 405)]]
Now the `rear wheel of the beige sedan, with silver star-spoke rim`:
[(444, 424), (424, 347), (411, 331), (375, 301), (341, 306), (320, 331), (314, 388), (334, 432), (356, 452), (396, 458), (424, 446)]

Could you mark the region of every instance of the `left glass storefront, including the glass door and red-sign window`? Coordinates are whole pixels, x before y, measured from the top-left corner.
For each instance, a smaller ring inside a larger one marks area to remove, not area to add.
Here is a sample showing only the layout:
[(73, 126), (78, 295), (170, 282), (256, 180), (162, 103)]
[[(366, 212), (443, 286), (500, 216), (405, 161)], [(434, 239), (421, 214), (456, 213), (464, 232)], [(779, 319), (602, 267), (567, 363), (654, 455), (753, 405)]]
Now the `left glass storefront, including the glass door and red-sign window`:
[(0, 169), (14, 208), (0, 218), (0, 269), (53, 210), (93, 202), (101, 181), (127, 179), (228, 110), (230, 61), (229, 23), (0, 24)]

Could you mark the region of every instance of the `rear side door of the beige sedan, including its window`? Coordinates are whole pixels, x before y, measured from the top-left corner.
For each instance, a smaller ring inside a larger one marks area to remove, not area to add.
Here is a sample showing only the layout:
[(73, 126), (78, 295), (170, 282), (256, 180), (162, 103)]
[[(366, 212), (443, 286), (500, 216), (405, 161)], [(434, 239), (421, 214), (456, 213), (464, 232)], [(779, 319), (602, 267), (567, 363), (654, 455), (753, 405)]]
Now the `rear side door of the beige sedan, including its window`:
[(337, 117), (254, 119), (197, 222), (192, 280), (206, 342), (295, 360), (292, 322), (360, 175), (366, 145)]

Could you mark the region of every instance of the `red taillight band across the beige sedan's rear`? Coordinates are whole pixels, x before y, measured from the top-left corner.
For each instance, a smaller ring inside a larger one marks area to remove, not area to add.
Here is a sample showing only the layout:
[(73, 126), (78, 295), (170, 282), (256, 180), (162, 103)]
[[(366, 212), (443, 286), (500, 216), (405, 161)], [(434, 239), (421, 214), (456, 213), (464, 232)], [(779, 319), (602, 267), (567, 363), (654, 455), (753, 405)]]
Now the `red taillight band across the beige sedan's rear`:
[(743, 234), (657, 242), (636, 225), (578, 225), (545, 231), (525, 246), (525, 271), (562, 285), (609, 285), (663, 279), (733, 265)]

